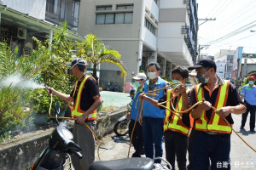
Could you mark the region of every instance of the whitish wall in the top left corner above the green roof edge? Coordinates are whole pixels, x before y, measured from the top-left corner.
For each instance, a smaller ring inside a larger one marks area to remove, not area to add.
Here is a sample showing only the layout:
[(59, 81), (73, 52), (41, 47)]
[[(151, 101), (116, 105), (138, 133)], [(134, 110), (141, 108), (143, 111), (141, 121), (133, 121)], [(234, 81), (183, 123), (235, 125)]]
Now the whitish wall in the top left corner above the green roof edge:
[(45, 18), (46, 0), (2, 0), (2, 2), (8, 8), (13, 8), (38, 20)]

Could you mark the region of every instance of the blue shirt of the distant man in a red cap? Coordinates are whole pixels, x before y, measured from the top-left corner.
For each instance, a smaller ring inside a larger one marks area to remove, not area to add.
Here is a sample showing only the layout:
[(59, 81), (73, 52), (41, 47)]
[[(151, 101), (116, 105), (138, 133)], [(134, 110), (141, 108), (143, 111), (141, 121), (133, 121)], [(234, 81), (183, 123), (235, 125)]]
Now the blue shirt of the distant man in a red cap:
[(250, 87), (248, 84), (241, 88), (241, 94), (244, 95), (244, 99), (248, 104), (256, 105), (256, 86)]

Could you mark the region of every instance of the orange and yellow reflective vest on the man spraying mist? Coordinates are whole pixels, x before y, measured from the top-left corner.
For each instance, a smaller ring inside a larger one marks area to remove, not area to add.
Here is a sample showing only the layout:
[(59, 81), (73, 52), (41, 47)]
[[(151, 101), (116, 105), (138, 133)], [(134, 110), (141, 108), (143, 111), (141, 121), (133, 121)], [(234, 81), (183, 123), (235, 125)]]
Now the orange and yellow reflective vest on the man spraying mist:
[[(82, 91), (84, 89), (84, 84), (86, 82), (86, 80), (89, 78), (90, 76), (85, 76), (84, 77), (84, 80), (80, 83), (79, 85), (79, 91), (78, 91), (78, 94), (77, 94), (77, 98), (74, 102), (74, 106), (70, 106), (70, 109), (71, 109), (71, 116), (73, 117), (77, 117), (77, 116), (81, 116), (84, 114), (85, 111), (81, 110), (80, 108), (80, 99), (81, 99), (81, 95), (82, 95)], [(74, 89), (75, 91), (75, 89)], [(86, 117), (86, 121), (93, 121), (93, 120), (96, 120), (97, 116), (96, 116), (96, 110), (93, 111), (88, 117)]]

